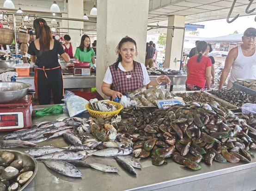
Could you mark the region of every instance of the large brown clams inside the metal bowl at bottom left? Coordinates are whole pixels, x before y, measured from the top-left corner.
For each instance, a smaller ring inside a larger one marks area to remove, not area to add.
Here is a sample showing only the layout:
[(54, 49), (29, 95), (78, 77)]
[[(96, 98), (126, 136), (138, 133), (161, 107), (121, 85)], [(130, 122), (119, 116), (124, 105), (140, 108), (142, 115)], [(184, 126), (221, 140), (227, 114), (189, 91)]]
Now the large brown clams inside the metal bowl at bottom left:
[(0, 155), (0, 191), (17, 191), (32, 177), (34, 167), (24, 166), (11, 152)]

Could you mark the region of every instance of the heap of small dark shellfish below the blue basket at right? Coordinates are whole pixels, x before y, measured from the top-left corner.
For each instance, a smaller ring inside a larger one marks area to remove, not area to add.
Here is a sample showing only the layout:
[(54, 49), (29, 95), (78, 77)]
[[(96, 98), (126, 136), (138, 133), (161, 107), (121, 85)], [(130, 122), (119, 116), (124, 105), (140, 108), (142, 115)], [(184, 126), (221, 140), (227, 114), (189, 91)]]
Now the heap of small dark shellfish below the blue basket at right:
[(208, 93), (211, 93), (214, 96), (217, 96), (218, 98), (221, 98), (238, 107), (242, 107), (242, 105), (245, 103), (256, 104), (256, 97), (235, 89), (216, 91), (211, 90), (208, 91)]

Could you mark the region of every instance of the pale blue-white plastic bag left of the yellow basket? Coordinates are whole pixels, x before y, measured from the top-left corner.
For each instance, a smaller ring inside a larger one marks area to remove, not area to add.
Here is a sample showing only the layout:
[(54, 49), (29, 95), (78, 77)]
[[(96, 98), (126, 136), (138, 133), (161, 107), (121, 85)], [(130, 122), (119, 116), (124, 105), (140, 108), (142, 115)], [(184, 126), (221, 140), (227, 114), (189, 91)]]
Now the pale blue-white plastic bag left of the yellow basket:
[(65, 91), (64, 102), (67, 106), (67, 111), (70, 117), (77, 116), (85, 111), (85, 105), (89, 103), (84, 98), (75, 95), (73, 92)]

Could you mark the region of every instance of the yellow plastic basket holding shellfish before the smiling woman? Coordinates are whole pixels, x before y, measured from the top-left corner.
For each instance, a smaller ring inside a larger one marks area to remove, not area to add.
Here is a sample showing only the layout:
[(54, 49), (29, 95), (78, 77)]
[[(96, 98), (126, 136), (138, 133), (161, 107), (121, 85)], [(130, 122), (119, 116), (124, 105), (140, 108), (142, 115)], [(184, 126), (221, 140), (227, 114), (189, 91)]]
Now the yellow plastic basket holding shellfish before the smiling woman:
[(116, 103), (114, 101), (105, 101), (108, 102), (110, 104), (114, 104), (117, 107), (117, 110), (115, 111), (95, 111), (95, 110), (91, 110), (90, 109), (90, 103), (85, 105), (85, 109), (88, 110), (89, 114), (95, 118), (111, 118), (117, 114), (119, 114), (119, 112), (122, 110), (122, 104)]

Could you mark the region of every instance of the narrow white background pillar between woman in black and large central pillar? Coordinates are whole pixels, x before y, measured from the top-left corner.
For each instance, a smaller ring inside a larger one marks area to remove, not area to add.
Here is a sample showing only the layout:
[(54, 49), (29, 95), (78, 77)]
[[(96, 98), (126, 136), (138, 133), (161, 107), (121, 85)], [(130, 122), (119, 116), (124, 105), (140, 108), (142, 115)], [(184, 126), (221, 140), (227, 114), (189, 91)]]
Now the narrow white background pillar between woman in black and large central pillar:
[[(68, 1), (68, 17), (69, 18), (83, 18), (84, 15), (84, 1), (83, 0), (69, 0)], [(68, 21), (69, 28), (84, 29), (84, 23), (79, 21)], [(82, 32), (81, 32), (82, 33)], [(81, 36), (79, 30), (68, 30), (68, 35), (71, 37), (73, 44), (73, 54), (76, 47), (80, 45)]]

